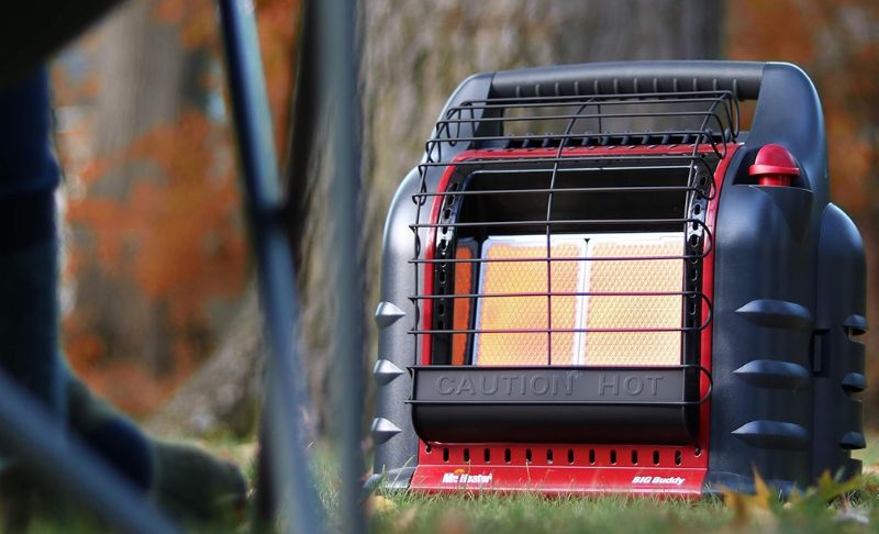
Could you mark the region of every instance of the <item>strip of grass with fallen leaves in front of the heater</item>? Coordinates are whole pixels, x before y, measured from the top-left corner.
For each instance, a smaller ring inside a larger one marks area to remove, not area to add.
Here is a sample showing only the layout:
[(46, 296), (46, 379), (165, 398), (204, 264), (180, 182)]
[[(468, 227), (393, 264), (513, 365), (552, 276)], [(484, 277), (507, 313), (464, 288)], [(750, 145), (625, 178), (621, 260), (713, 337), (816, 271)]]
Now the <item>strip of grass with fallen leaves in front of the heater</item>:
[[(872, 443), (872, 442), (871, 442)], [(865, 476), (830, 477), (791, 502), (768, 489), (756, 496), (681, 500), (627, 497), (556, 497), (534, 493), (372, 496), (370, 526), (377, 533), (678, 533), (678, 532), (877, 532), (879, 446), (858, 455)], [(857, 489), (852, 493), (852, 489)], [(830, 502), (830, 503), (828, 503)]]

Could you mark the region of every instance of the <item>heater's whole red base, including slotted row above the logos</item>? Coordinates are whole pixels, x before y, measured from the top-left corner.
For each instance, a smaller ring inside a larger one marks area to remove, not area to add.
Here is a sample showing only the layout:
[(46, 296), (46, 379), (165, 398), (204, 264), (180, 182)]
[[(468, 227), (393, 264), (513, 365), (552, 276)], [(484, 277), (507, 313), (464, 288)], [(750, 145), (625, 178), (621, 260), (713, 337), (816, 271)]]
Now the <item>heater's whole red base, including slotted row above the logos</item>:
[(408, 489), (697, 498), (706, 475), (694, 445), (422, 442)]

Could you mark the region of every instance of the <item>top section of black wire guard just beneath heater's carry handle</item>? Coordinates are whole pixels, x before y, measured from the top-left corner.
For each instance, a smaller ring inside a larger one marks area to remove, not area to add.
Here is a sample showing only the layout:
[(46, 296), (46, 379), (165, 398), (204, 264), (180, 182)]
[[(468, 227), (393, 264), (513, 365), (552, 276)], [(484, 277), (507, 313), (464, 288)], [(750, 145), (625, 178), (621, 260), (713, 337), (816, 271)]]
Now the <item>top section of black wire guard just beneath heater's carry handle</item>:
[(705, 144), (723, 157), (738, 121), (732, 91), (465, 100), (444, 110), (423, 165), (448, 162), (465, 148)]

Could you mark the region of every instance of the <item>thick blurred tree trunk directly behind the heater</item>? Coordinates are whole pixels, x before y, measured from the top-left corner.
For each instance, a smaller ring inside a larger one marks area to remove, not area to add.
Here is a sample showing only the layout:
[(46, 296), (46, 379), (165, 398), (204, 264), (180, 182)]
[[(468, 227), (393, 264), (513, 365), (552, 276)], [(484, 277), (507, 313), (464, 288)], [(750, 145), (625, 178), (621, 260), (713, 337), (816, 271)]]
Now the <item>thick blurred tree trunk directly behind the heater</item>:
[[(400, 179), (420, 160), (424, 140), (450, 91), (464, 78), (481, 70), (600, 60), (715, 58), (721, 52), (722, 11), (720, 1), (698, 0), (361, 2), (361, 237), (368, 287), (364, 310), (368, 360), (363, 366), (365, 377), (376, 358), (371, 315), (378, 301), (385, 214)], [(325, 148), (321, 157), (332, 157), (332, 147), (323, 147), (320, 142), (316, 146), (319, 151)], [(323, 427), (332, 414), (325, 400), (332, 387), (330, 366), (335, 360), (330, 331), (333, 289), (326, 266), (353, 258), (349, 252), (337, 251), (321, 238), (327, 234), (333, 207), (325, 177), (319, 171), (310, 177), (304, 188), (304, 226), (291, 232), (303, 233), (294, 240), (303, 247), (299, 255), (303, 260), (298, 266), (302, 346)], [(240, 335), (252, 333), (242, 331)], [(234, 338), (229, 343), (241, 345)], [(216, 357), (227, 354), (224, 348)], [(365, 409), (364, 418), (369, 412)]]

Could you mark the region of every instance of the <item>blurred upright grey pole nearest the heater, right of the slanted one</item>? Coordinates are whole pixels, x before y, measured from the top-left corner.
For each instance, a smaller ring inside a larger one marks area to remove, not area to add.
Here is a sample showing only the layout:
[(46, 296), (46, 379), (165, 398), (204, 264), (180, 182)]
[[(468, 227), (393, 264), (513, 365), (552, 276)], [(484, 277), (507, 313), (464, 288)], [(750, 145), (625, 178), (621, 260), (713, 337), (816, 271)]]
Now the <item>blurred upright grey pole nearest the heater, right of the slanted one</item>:
[(364, 470), (360, 423), (364, 411), (364, 285), (359, 247), (363, 218), (360, 191), (360, 110), (357, 98), (357, 58), (354, 0), (314, 2), (316, 19), (318, 94), (327, 122), (325, 152), (330, 168), (331, 235), (326, 244), (336, 251), (333, 265), (335, 333), (336, 450), (341, 456), (342, 532), (359, 533), (366, 518), (360, 503)]

